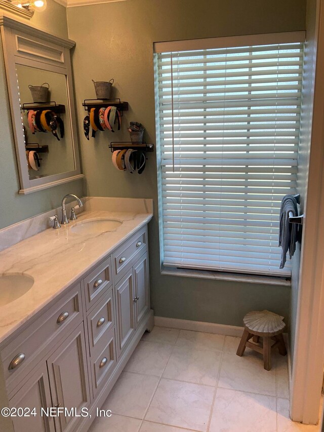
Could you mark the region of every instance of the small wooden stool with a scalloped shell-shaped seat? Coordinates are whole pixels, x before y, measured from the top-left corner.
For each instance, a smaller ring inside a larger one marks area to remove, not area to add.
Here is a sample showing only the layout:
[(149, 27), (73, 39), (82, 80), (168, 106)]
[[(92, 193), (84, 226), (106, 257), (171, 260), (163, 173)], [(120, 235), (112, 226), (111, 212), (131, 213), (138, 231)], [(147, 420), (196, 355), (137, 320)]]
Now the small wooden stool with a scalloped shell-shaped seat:
[[(286, 356), (286, 346), (282, 331), (286, 324), (282, 321), (284, 317), (280, 317), (276, 313), (269, 312), (269, 310), (253, 311), (247, 313), (243, 322), (245, 325), (244, 332), (239, 342), (236, 355), (242, 356), (246, 346), (254, 349), (260, 354), (263, 354), (264, 369), (269, 371), (271, 369), (271, 348), (278, 348), (281, 356)], [(263, 347), (257, 345), (260, 336), (263, 338)], [(249, 340), (253, 337), (253, 342)], [(274, 343), (271, 345), (271, 340)]]

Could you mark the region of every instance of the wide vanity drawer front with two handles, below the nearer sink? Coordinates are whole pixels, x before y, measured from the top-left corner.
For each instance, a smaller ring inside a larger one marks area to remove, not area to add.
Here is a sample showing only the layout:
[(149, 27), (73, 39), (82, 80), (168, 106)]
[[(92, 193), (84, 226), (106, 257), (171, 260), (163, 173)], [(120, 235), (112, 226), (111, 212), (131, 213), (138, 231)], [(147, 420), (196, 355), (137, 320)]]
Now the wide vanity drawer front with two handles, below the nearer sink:
[(53, 339), (59, 335), (66, 336), (82, 321), (80, 284), (77, 284), (2, 349), (1, 357), (8, 391), (18, 385), (28, 370), (40, 360), (46, 345), (53, 343)]

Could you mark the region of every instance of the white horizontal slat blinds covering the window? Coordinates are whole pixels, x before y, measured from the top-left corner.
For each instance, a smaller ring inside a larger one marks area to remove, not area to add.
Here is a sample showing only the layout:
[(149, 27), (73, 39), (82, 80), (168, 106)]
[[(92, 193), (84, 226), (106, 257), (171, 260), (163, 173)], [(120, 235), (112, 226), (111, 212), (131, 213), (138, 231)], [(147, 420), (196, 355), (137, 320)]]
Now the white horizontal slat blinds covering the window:
[(302, 64), (295, 41), (155, 54), (164, 265), (290, 276)]

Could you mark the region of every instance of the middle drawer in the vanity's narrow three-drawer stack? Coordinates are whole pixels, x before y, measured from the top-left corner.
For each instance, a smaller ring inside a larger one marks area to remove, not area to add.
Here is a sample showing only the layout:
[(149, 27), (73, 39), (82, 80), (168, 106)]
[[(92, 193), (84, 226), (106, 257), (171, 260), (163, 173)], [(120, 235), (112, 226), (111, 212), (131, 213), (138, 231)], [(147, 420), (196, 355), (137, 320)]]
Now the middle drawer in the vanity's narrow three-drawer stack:
[(101, 338), (114, 326), (114, 307), (112, 298), (112, 287), (107, 294), (100, 300), (100, 304), (89, 313), (87, 317), (90, 352), (92, 354), (97, 343), (100, 344)]

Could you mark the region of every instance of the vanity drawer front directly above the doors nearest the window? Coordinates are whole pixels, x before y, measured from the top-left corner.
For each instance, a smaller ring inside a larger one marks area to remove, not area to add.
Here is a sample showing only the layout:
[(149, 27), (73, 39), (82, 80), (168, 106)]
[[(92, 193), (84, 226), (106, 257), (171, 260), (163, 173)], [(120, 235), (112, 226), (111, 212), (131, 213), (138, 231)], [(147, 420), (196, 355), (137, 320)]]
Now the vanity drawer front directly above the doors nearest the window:
[(121, 245), (113, 253), (114, 273), (119, 276), (119, 273), (128, 266), (135, 255), (144, 251), (147, 245), (146, 227), (142, 228), (124, 245)]

